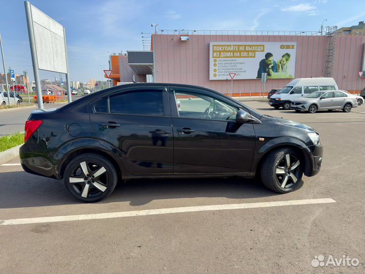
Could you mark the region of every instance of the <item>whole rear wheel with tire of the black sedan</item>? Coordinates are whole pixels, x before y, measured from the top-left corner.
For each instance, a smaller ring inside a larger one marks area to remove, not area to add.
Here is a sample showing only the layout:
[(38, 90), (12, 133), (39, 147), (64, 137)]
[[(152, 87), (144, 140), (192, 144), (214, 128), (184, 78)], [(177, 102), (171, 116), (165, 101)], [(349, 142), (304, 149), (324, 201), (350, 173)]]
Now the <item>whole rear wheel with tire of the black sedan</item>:
[(75, 198), (83, 202), (96, 202), (113, 192), (118, 182), (118, 174), (108, 159), (98, 154), (86, 153), (67, 164), (63, 182)]

